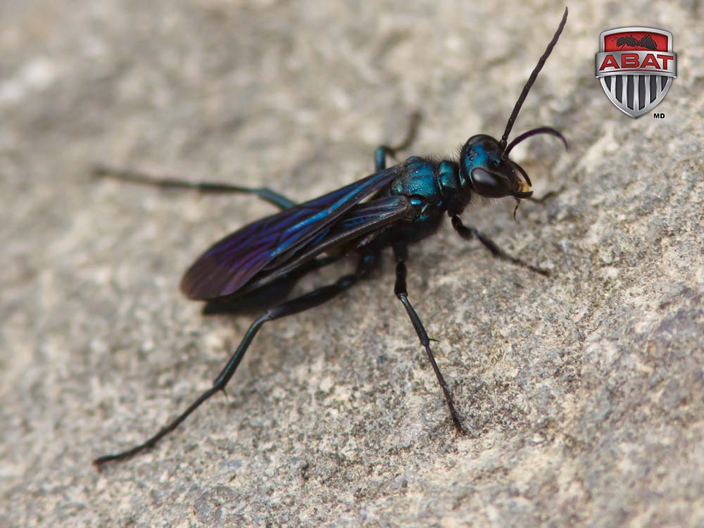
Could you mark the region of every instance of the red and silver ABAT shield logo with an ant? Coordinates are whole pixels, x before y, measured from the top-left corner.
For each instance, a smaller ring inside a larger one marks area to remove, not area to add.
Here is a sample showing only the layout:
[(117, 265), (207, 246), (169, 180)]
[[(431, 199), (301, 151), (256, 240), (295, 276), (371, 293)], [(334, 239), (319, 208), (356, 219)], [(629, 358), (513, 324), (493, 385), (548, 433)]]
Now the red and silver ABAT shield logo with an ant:
[(677, 77), (672, 33), (653, 27), (620, 27), (603, 32), (599, 43), (596, 77), (616, 108), (639, 118), (658, 106)]

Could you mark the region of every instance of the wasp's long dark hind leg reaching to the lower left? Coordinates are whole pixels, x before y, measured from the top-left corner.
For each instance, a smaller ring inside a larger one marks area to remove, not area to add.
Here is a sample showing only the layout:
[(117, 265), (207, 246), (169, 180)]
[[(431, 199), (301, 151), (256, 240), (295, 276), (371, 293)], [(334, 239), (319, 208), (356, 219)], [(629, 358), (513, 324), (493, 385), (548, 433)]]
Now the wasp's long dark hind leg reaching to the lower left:
[(234, 372), (235, 370), (237, 370), (237, 367), (241, 362), (242, 358), (244, 358), (244, 353), (247, 351), (247, 348), (249, 348), (249, 345), (252, 343), (257, 332), (259, 332), (259, 329), (264, 325), (265, 322), (280, 319), (286, 317), (287, 315), (301, 313), (303, 311), (309, 310), (310, 308), (314, 308), (315, 306), (320, 306), (322, 303), (325, 303), (333, 297), (338, 296), (343, 291), (353, 286), (353, 284), (356, 284), (356, 282), (358, 282), (360, 278), (362, 278), (364, 275), (367, 274), (367, 272), (369, 272), (372, 268), (375, 267), (377, 262), (378, 256), (375, 253), (367, 253), (365, 255), (362, 255), (360, 256), (360, 260), (355, 272), (340, 277), (339, 279), (337, 279), (337, 282), (334, 282), (333, 284), (328, 284), (327, 286), (314, 289), (313, 291), (308, 292), (308, 294), (296, 297), (294, 299), (291, 299), (290, 301), (286, 301), (266, 310), (265, 313), (256, 318), (256, 320), (254, 320), (249, 329), (247, 329), (247, 332), (244, 334), (242, 341), (237, 347), (237, 350), (234, 351), (232, 356), (230, 356), (230, 360), (227, 362), (227, 365), (225, 365), (225, 368), (223, 368), (222, 372), (220, 372), (218, 377), (215, 378), (213, 386), (207, 391), (203, 392), (203, 394), (201, 394), (201, 396), (199, 396), (196, 401), (191, 403), (189, 408), (184, 410), (183, 413), (178, 415), (174, 420), (169, 422), (168, 425), (163, 427), (163, 429), (161, 429), (154, 436), (151, 436), (151, 438), (147, 439), (142, 444), (134, 446), (131, 449), (127, 449), (127, 451), (122, 451), (121, 453), (115, 453), (113, 455), (104, 455), (99, 458), (96, 458), (95, 460), (93, 460), (93, 464), (96, 465), (96, 467), (100, 468), (105, 463), (115, 460), (125, 460), (126, 458), (130, 458), (141, 451), (145, 451), (146, 449), (153, 447), (164, 436), (176, 429), (176, 427), (178, 427), (181, 422), (186, 420), (186, 418), (191, 413), (193, 413), (194, 410), (199, 408), (199, 406), (201, 406), (203, 402), (208, 400), (210, 396), (213, 396), (213, 394), (218, 391), (225, 390), (227, 382), (230, 381), (230, 378), (232, 377), (232, 375), (234, 375)]

